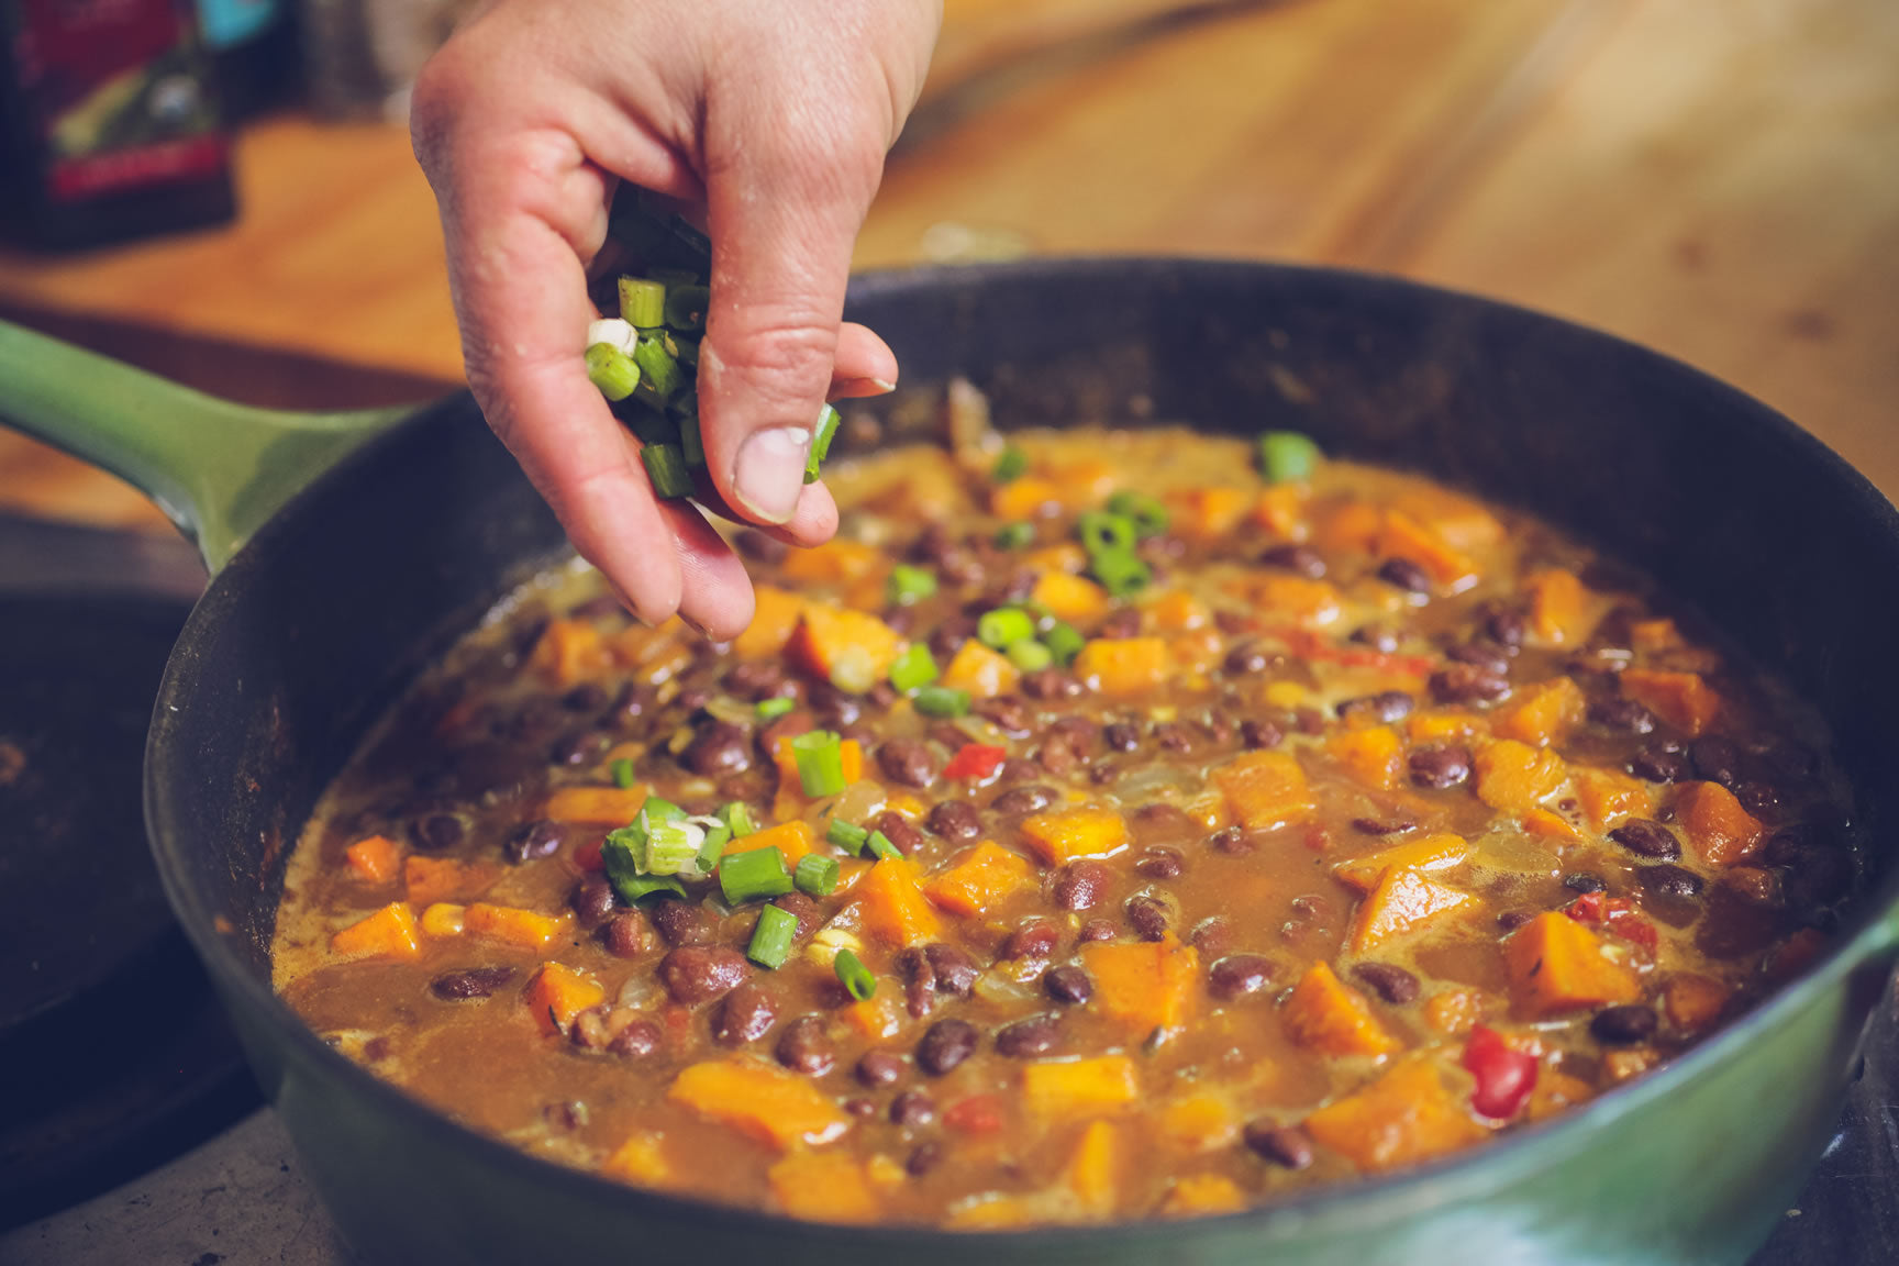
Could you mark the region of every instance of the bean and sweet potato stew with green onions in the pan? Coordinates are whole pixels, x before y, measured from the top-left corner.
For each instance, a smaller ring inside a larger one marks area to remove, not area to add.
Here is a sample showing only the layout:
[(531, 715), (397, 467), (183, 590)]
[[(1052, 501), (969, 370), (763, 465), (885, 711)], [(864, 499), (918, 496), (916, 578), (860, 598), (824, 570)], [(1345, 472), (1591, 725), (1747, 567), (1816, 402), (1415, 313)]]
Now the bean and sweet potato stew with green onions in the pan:
[(1206, 1215), (1641, 1076), (1852, 886), (1823, 735), (1519, 512), (1297, 435), (828, 478), (733, 643), (562, 568), (410, 691), (292, 860), (317, 1033), (705, 1200)]

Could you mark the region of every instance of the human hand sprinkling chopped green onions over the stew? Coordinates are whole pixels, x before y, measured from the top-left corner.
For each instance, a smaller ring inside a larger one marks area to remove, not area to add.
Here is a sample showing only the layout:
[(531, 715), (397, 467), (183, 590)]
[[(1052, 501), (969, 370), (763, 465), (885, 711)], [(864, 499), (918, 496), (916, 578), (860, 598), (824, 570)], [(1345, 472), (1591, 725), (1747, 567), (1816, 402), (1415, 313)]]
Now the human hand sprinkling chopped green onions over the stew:
[(896, 382), (891, 349), (841, 325), (851, 249), (940, 21), (940, 0), (499, 0), (416, 84), (469, 387), (642, 621), (678, 611), (729, 638), (752, 586), (697, 507), (655, 501), (587, 380), (615, 180), (703, 213), (712, 237), (697, 385), (714, 488), (822, 543), (837, 507), (803, 482), (818, 408)]

